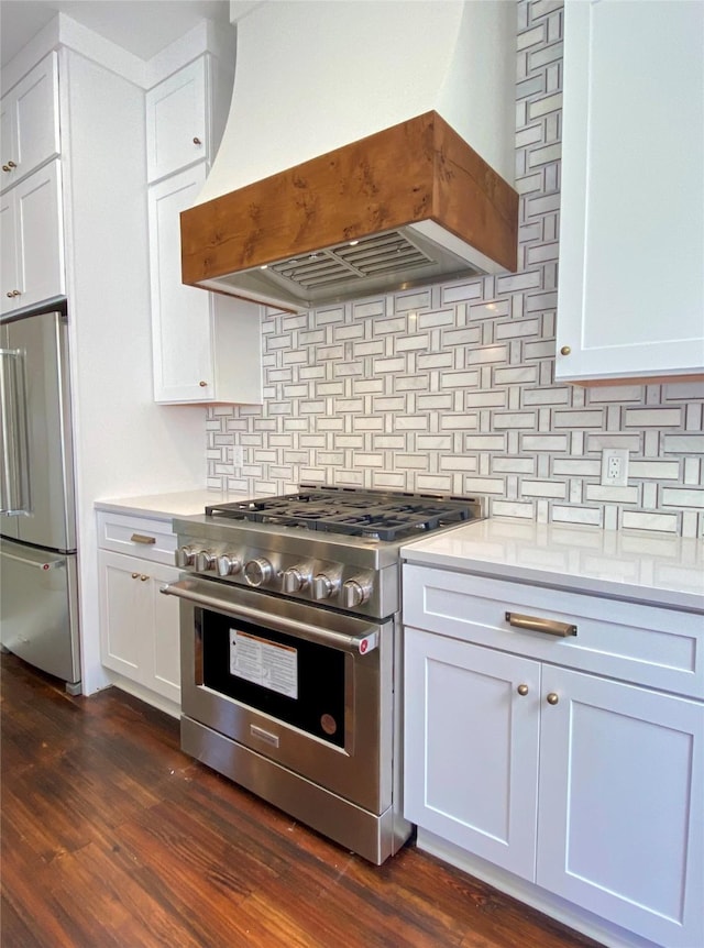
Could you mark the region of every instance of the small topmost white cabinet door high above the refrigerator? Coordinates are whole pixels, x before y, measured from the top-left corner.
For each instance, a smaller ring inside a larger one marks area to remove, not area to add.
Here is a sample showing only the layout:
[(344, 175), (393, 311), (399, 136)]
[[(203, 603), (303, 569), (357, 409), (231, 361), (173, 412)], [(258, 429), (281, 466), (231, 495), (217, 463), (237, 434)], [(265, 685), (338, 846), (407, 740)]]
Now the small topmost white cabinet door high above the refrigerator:
[(61, 152), (58, 64), (50, 53), (2, 98), (0, 187), (12, 187)]

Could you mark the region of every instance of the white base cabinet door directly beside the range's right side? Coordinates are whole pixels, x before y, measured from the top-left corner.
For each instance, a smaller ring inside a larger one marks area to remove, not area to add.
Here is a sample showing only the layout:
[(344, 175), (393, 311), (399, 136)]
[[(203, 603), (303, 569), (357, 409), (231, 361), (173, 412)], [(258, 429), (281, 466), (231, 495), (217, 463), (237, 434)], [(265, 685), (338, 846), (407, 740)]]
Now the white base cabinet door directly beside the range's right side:
[(539, 663), (407, 628), (405, 668), (404, 815), (532, 880)]

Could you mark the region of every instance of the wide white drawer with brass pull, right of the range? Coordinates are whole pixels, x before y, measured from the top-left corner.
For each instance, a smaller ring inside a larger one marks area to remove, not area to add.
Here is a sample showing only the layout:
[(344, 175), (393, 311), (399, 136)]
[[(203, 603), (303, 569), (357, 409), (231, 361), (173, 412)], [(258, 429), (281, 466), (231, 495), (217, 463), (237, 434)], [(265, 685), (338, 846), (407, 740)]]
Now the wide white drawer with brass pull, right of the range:
[[(559, 637), (507, 613), (566, 624)], [(704, 697), (704, 618), (620, 599), (404, 566), (404, 624), (622, 681)]]

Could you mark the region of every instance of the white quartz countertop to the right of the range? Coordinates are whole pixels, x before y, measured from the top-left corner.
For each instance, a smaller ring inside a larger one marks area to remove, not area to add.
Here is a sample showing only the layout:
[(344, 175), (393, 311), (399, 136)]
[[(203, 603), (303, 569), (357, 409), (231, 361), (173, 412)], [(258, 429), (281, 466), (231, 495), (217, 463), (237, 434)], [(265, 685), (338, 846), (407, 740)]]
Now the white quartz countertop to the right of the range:
[(427, 566), (704, 609), (702, 540), (492, 518), (408, 543), (402, 554)]

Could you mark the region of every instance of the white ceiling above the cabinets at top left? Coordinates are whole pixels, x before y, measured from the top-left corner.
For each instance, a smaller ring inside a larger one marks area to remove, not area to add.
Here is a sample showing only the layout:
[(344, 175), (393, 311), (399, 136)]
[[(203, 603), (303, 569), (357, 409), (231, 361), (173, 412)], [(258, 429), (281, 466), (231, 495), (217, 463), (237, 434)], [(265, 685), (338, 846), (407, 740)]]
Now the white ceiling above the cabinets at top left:
[(0, 0), (0, 64), (59, 11), (150, 59), (202, 18), (229, 25), (229, 7), (228, 0)]

